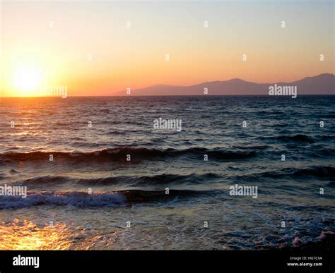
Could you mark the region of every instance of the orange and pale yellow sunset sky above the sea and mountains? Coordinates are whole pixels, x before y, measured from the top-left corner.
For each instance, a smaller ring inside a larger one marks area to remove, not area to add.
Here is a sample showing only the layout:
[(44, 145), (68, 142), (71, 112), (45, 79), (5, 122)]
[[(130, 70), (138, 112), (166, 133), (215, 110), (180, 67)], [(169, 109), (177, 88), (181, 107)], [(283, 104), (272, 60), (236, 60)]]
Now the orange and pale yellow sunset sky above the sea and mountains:
[(0, 5), (0, 97), (34, 96), (45, 85), (67, 86), (69, 96), (112, 95), (155, 84), (273, 83), (335, 72), (332, 1)]

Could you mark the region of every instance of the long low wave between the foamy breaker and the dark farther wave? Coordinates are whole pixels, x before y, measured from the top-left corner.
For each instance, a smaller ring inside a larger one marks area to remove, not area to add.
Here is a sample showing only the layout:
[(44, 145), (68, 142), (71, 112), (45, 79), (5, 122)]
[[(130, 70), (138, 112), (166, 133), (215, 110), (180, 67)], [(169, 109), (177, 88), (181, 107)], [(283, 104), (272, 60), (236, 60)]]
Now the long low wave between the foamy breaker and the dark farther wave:
[(37, 176), (14, 183), (16, 186), (58, 186), (67, 183), (71, 186), (194, 186), (199, 184), (210, 184), (213, 180), (227, 180), (254, 182), (263, 179), (302, 179), (322, 178), (335, 179), (335, 168), (332, 166), (311, 166), (305, 169), (285, 168), (274, 171), (257, 172), (247, 175), (221, 176), (215, 173), (205, 174), (157, 174), (151, 176), (106, 176), (98, 178), (76, 178), (70, 176)]

